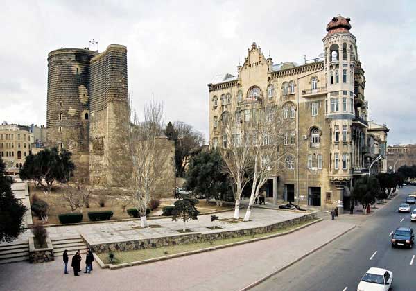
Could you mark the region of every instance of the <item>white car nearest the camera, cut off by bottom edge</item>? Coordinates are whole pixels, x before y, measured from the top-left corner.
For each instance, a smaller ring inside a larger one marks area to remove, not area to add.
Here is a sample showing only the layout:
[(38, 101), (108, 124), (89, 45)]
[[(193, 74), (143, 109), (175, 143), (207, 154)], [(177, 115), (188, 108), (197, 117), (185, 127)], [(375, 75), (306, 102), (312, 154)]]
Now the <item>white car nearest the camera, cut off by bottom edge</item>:
[(379, 267), (370, 267), (361, 278), (357, 291), (388, 291), (393, 288), (393, 273)]

